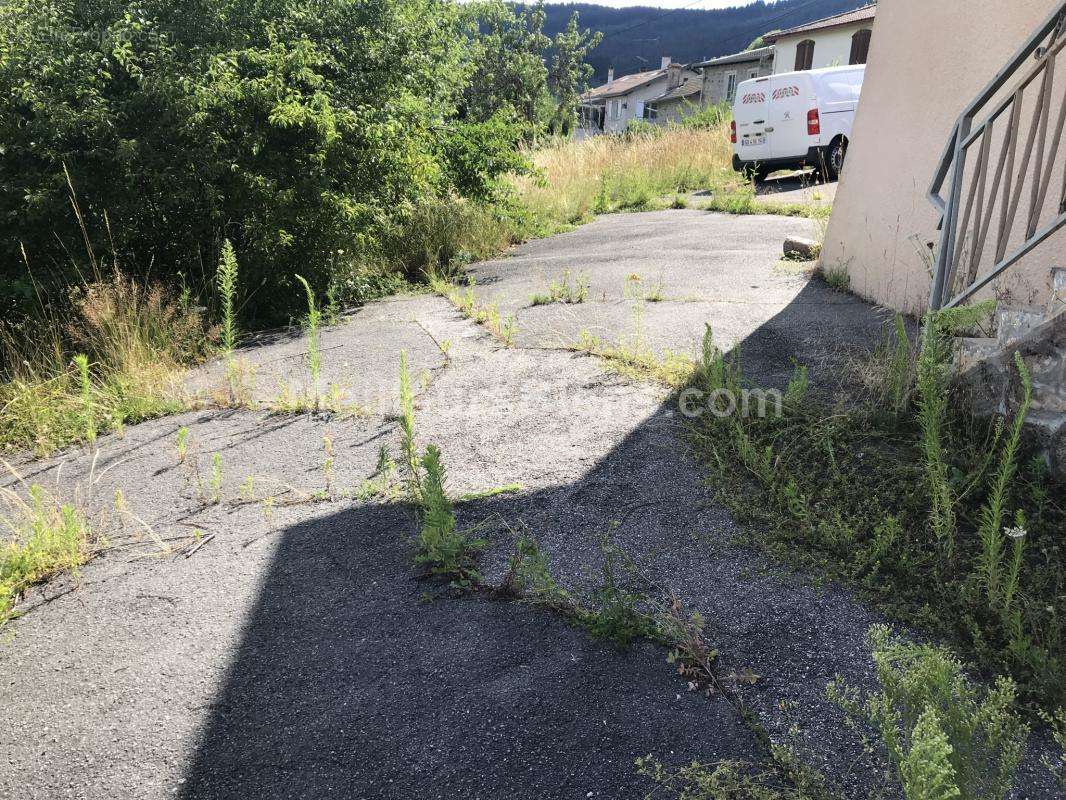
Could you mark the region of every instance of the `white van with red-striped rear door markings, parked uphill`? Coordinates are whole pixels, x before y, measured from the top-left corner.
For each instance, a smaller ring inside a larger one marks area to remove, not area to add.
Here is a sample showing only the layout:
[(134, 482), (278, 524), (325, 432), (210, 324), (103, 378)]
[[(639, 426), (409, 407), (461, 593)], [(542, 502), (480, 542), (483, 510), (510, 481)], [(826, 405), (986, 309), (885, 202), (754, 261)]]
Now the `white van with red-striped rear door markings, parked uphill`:
[(733, 170), (762, 180), (777, 170), (814, 166), (837, 178), (866, 66), (754, 78), (737, 86)]

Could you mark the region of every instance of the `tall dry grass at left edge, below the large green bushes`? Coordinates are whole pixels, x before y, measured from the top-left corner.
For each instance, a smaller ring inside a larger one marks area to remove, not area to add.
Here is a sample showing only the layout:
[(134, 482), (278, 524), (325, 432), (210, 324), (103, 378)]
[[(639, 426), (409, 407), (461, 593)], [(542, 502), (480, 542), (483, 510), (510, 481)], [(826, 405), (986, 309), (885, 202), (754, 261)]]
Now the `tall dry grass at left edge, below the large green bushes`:
[(182, 367), (209, 337), (198, 309), (117, 270), (0, 324), (0, 449), (46, 454), (179, 410)]

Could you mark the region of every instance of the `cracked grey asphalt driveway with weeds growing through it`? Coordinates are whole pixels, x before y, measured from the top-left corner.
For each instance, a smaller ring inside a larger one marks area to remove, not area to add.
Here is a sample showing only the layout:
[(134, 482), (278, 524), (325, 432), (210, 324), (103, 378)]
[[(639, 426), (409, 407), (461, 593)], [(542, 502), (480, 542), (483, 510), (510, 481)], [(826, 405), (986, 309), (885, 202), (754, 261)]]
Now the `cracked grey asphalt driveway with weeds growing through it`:
[[(474, 267), (481, 297), (517, 315), (516, 349), (432, 297), (375, 303), (325, 331), (323, 383), (343, 384), (359, 416), (191, 412), (108, 437), (97, 455), (21, 461), (28, 482), (80, 489), (110, 547), (76, 580), (34, 592), (3, 631), (0, 797), (632, 798), (651, 788), (633, 767), (647, 753), (674, 766), (765, 757), (732, 707), (685, 691), (657, 646), (618, 651), (488, 596), (427, 596), (410, 510), (352, 496), (383, 447), (399, 453), (401, 350), (422, 377), (419, 441), (440, 446), (452, 494), (521, 484), (458, 507), (491, 543), (488, 579), (526, 529), (560, 582), (587, 591), (613, 527), (642, 573), (707, 617), (725, 666), (762, 676), (744, 700), (772, 738), (798, 724), (805, 756), (844, 796), (865, 796), (881, 777), (854, 767), (860, 743), (824, 686), (835, 673), (869, 684), (862, 639), (876, 617), (734, 543), (661, 389), (551, 349), (581, 330), (630, 335), (623, 282), (661, 274), (667, 300), (642, 321), (655, 347), (690, 351), (707, 322), (742, 341), (758, 374), (776, 380), (797, 358), (831, 382), (840, 343), (870, 347), (881, 317), (777, 269), (780, 239), (805, 224), (602, 218)], [(589, 301), (528, 307), (567, 268), (589, 273)], [(304, 385), (304, 345), (274, 334), (244, 349), (261, 398)], [(191, 385), (213, 386), (219, 370)], [(333, 497), (316, 495), (324, 437)], [(215, 454), (224, 501), (206, 505)], [(242, 490), (249, 477), (260, 501)], [(130, 514), (112, 509), (119, 489)], [(196, 531), (206, 539), (192, 550)], [(1033, 774), (1028, 796), (1051, 797)]]

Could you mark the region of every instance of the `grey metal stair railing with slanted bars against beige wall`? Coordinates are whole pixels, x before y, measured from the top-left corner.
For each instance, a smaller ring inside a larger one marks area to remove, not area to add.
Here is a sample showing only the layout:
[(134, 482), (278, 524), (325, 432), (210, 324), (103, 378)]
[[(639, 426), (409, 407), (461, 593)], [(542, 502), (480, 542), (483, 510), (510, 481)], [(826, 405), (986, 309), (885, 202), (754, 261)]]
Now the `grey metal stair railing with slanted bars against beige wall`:
[[(1066, 226), (1066, 175), (1061, 189), (1051, 186), (1063, 166), (1057, 157), (1066, 101), (1054, 98), (1055, 61), (1064, 46), (1066, 2), (955, 123), (930, 189), (930, 199), (942, 214), (930, 297), (933, 310), (965, 303)], [(1013, 90), (1005, 92), (1012, 82)], [(1027, 94), (1034, 84), (1035, 95)], [(1032, 111), (1023, 113), (1027, 102)], [(1004, 117), (1005, 128), (997, 127)], [(995, 139), (1000, 141), (994, 163)], [(941, 192), (949, 181), (944, 199)], [(1057, 194), (1049, 197), (1049, 191)], [(979, 275), (985, 260), (991, 263)]]

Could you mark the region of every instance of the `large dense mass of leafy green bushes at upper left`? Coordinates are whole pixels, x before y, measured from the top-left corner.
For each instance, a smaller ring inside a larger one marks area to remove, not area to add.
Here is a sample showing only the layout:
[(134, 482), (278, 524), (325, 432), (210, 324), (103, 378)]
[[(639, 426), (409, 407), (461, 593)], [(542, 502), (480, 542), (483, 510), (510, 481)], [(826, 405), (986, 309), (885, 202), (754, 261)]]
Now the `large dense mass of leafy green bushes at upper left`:
[(131, 273), (205, 285), (229, 239), (264, 320), (297, 271), (324, 293), (384, 263), (419, 204), (484, 201), (522, 166), (512, 112), (461, 117), (473, 25), (443, 0), (0, 0), (9, 302), (21, 244), (69, 275), (83, 233)]

